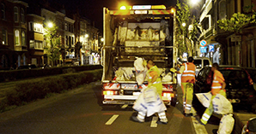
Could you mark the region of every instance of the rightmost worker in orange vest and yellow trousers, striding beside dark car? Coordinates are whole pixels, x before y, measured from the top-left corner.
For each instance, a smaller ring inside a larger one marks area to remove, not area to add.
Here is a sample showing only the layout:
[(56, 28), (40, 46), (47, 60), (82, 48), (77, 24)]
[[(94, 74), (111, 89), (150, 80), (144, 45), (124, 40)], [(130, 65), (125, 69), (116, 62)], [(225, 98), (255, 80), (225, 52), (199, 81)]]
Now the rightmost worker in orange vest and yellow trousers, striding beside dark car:
[(201, 125), (206, 125), (208, 120), (210, 119), (211, 114), (213, 113), (213, 105), (212, 105), (212, 99), (215, 98), (216, 94), (221, 94), (222, 96), (226, 97), (226, 83), (225, 83), (225, 79), (223, 78), (222, 73), (220, 73), (218, 71), (218, 64), (217, 63), (213, 63), (212, 67), (211, 67), (211, 71), (213, 72), (213, 80), (212, 80), (212, 84), (211, 84), (211, 99), (210, 99), (210, 106), (209, 108), (206, 108), (204, 111), (204, 114), (202, 116), (201, 119), (198, 119), (198, 122)]

